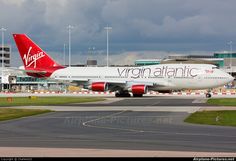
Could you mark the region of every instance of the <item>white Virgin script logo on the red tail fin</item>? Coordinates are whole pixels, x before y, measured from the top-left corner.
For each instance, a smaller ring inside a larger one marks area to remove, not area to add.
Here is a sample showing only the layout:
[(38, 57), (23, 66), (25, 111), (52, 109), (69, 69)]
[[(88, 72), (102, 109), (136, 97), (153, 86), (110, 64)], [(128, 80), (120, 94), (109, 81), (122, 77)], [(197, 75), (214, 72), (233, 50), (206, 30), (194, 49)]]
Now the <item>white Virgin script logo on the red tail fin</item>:
[(33, 68), (37, 67), (37, 60), (41, 59), (45, 56), (44, 52), (37, 52), (36, 54), (30, 54), (32, 50), (32, 47), (29, 48), (27, 54), (24, 54), (23, 61), (25, 63), (26, 67), (31, 67), (33, 65)]

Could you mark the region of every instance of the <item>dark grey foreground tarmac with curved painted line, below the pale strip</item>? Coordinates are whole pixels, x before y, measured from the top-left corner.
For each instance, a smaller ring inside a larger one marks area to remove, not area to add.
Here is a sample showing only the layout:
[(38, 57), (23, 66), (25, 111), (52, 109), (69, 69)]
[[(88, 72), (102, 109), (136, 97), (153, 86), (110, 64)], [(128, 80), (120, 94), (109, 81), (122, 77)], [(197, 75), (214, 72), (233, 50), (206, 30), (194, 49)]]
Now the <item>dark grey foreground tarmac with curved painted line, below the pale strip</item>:
[(183, 123), (182, 112), (54, 112), (0, 123), (4, 147), (235, 152), (236, 128)]

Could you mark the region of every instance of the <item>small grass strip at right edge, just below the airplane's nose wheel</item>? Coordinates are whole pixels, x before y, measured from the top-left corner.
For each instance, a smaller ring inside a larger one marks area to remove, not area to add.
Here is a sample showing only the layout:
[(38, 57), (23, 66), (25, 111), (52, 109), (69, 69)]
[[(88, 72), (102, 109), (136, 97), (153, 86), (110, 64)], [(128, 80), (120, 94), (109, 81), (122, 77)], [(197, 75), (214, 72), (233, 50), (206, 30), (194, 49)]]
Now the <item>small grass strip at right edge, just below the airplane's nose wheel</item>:
[(207, 101), (211, 105), (236, 106), (236, 98), (214, 98)]

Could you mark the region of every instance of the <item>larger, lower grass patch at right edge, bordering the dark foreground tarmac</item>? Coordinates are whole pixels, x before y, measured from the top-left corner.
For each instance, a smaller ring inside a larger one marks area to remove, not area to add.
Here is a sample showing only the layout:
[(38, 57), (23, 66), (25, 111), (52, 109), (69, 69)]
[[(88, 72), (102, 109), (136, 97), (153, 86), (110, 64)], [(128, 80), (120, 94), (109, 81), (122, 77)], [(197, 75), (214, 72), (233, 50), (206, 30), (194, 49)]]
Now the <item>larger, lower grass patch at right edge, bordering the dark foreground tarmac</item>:
[(236, 126), (236, 111), (195, 112), (184, 122), (207, 125)]

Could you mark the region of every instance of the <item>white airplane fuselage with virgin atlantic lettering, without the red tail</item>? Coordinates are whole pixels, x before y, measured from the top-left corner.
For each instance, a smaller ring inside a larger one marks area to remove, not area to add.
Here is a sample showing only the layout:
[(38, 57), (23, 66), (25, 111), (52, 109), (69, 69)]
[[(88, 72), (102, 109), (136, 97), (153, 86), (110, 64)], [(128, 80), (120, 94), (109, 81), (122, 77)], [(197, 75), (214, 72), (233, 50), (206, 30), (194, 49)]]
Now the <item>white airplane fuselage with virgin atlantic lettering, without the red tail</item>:
[(207, 64), (160, 64), (142, 67), (67, 67), (51, 78), (68, 81), (114, 82), (126, 86), (150, 85), (152, 90), (210, 89), (233, 80), (229, 74)]

